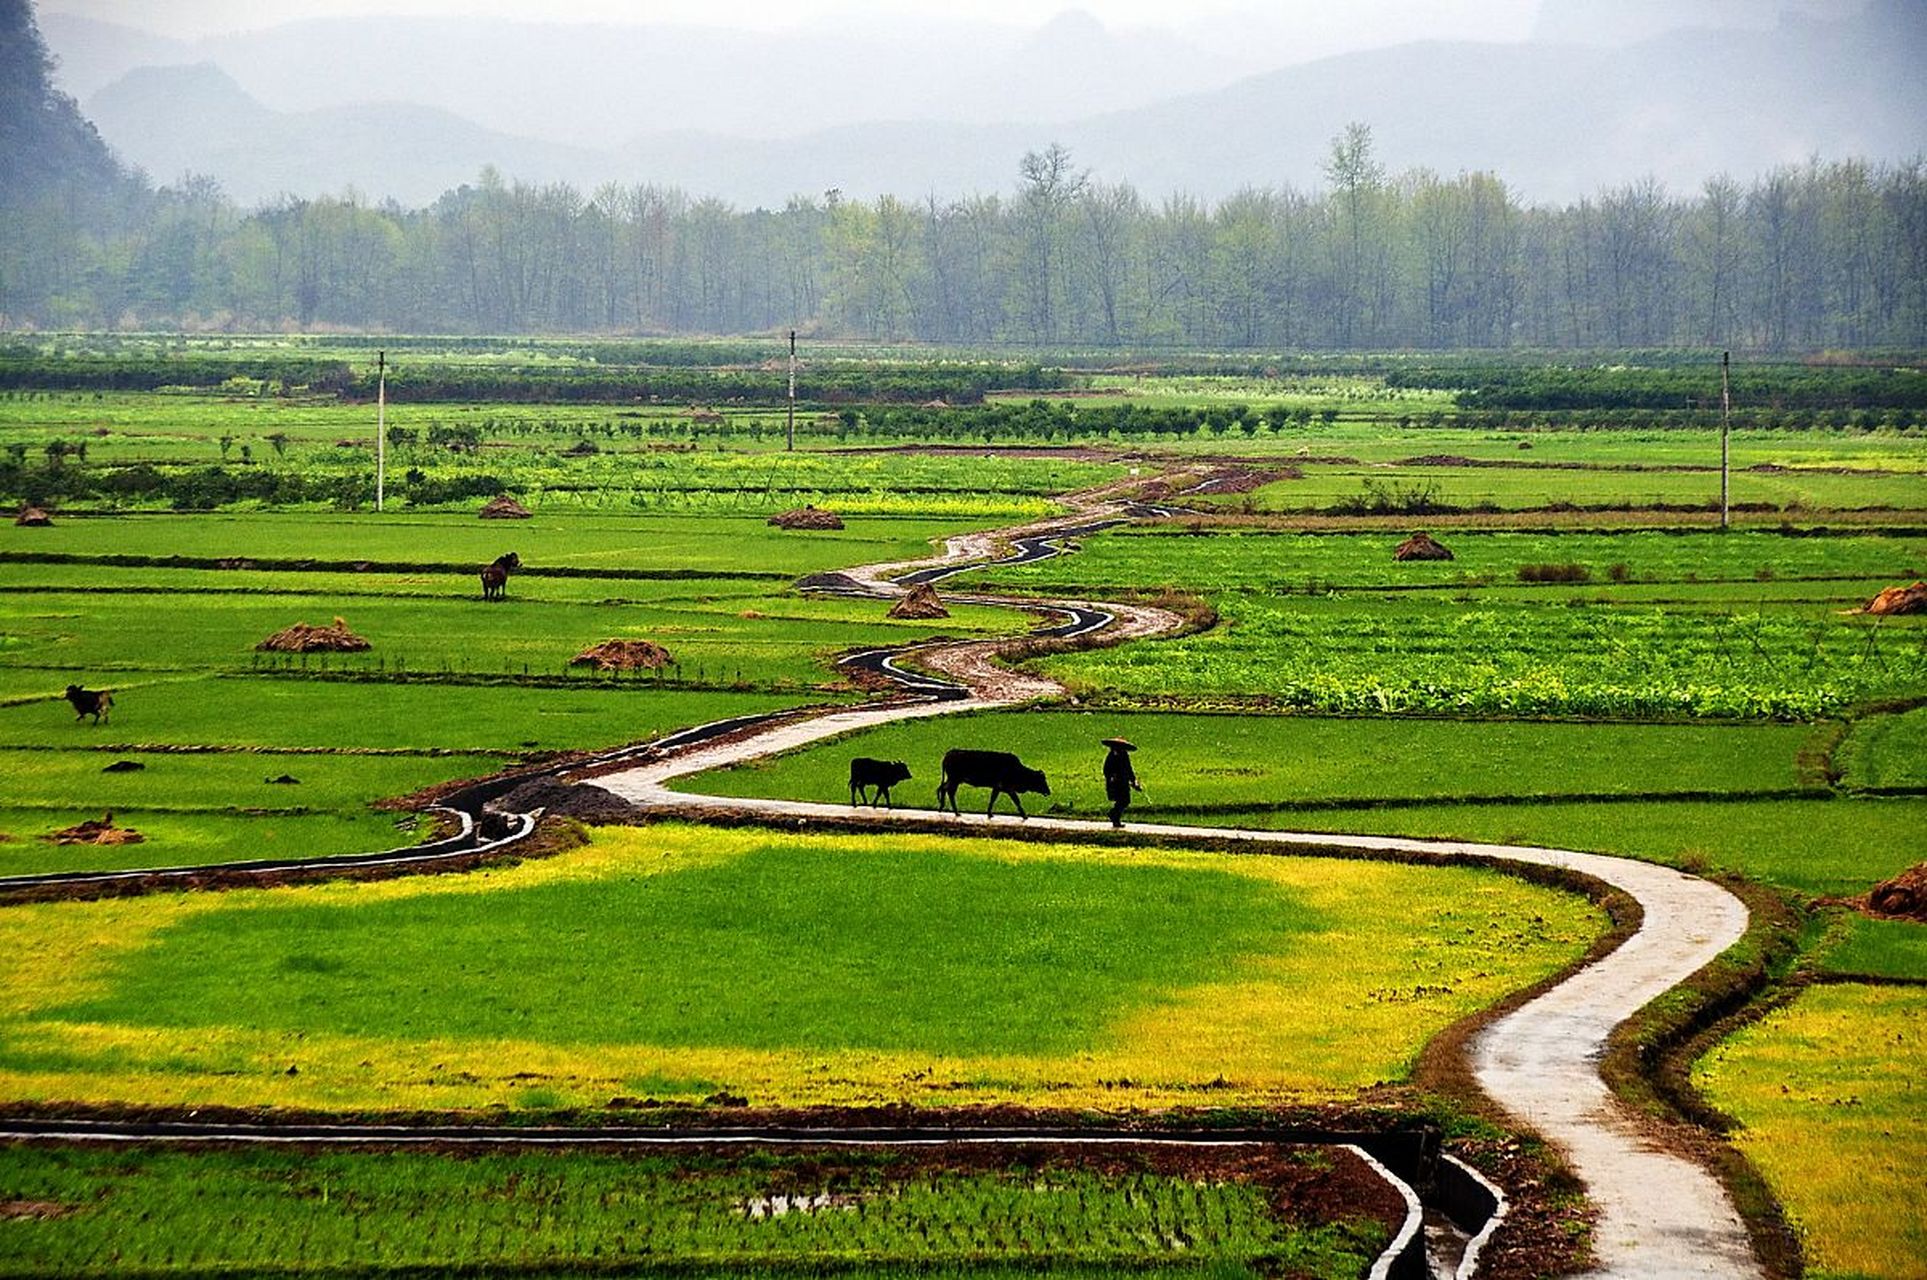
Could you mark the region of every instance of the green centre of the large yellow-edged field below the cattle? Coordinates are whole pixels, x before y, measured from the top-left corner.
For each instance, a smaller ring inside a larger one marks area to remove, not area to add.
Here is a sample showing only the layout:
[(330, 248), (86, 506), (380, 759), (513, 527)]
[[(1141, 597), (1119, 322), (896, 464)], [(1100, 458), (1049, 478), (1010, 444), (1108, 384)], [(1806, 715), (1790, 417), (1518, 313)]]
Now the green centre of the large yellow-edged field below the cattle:
[[(1201, 867), (752, 842), (715, 866), (632, 881), (200, 914), (108, 973), (110, 997), (48, 1016), (383, 1039), (1066, 1054), (1160, 993), (1281, 954), (1322, 925), (1283, 893)], [(441, 962), (451, 954), (462, 956), (453, 968)], [(622, 1008), (597, 999), (605, 991), (628, 993)]]

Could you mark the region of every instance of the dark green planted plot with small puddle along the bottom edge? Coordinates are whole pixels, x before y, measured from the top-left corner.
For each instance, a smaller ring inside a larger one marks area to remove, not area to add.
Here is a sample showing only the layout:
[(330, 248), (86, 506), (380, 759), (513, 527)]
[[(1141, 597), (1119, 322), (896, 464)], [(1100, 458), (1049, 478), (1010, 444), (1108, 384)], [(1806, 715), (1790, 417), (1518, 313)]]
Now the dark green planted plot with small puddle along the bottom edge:
[(1191, 1168), (1156, 1149), (994, 1159), (1006, 1166), (834, 1149), (451, 1157), (15, 1145), (0, 1147), (0, 1203), (42, 1209), (4, 1222), (0, 1268), (802, 1276), (834, 1261), (838, 1274), (867, 1278), (1123, 1268), (1337, 1280), (1364, 1274), (1386, 1240), (1376, 1222), (1339, 1218), (1316, 1178), (1278, 1186), (1233, 1159), (1193, 1157)]

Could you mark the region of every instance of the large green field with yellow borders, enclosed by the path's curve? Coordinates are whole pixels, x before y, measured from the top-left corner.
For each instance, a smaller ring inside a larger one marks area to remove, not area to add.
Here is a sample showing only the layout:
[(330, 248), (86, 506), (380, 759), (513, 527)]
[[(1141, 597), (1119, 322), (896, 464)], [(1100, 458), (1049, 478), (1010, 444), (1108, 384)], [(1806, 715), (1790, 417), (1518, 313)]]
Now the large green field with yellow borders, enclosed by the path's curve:
[(1472, 869), (605, 829), (493, 871), (0, 912), (0, 1095), (1335, 1101), (1601, 929)]

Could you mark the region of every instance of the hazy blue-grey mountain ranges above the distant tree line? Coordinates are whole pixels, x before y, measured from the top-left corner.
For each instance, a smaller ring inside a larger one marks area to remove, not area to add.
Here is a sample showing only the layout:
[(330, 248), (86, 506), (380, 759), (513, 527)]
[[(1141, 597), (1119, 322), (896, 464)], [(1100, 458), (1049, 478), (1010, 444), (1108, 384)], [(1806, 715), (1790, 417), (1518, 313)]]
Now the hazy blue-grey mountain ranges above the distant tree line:
[(420, 204), (484, 164), (740, 206), (831, 187), (948, 199), (1012, 189), (1017, 158), (1052, 141), (1150, 199), (1220, 199), (1322, 185), (1351, 120), (1372, 125), (1393, 172), (1491, 170), (1530, 200), (1927, 150), (1927, 0), (1761, 12), (1545, 0), (1532, 40), (1405, 42), (1256, 73), (1249, 62), (1276, 42), (1253, 37), (1241, 62), (1222, 33), (1085, 13), (1029, 31), (898, 19), (790, 33), (312, 19), (193, 44), (42, 23), (125, 160), (158, 181), (210, 173), (243, 202), (353, 185)]

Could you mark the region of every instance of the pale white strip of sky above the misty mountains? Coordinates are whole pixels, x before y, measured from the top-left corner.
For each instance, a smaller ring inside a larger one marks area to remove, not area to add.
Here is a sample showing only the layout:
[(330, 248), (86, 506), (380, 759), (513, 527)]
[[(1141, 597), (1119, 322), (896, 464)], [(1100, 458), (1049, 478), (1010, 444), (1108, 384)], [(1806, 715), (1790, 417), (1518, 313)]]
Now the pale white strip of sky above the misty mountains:
[(1522, 39), (1538, 0), (42, 0), (42, 8), (195, 39), (270, 27), (301, 17), (353, 13), (486, 13), (528, 21), (698, 23), (780, 29), (817, 19), (975, 17), (1037, 27), (1079, 8), (1108, 25), (1185, 27), (1247, 17), (1268, 29), (1299, 27), (1347, 44), (1461, 37)]

